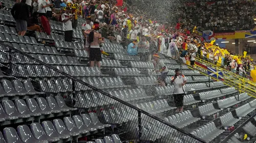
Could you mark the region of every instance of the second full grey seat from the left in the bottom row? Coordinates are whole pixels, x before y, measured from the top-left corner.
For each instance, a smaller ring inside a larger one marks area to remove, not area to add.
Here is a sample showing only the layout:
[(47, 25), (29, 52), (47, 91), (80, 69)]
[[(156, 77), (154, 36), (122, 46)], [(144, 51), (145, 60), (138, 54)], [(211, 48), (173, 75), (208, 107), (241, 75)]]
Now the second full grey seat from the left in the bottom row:
[(22, 140), (25, 143), (31, 143), (31, 142), (33, 142), (33, 143), (46, 142), (47, 143), (48, 142), (47, 140), (38, 140), (38, 139), (36, 139), (32, 135), (32, 133), (31, 133), (31, 131), (30, 131), (30, 129), (27, 125), (18, 126), (17, 130), (18, 130), (18, 135), (20, 137), (20, 140)]

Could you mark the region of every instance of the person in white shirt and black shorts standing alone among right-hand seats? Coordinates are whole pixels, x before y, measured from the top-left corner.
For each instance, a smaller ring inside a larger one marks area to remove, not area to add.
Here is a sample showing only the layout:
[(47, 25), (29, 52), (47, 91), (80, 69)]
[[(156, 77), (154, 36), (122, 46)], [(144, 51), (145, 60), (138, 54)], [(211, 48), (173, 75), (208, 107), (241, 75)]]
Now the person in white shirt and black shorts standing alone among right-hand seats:
[(180, 69), (175, 70), (175, 75), (172, 77), (171, 82), (174, 84), (174, 103), (177, 107), (177, 112), (183, 111), (183, 98), (186, 94), (185, 84), (187, 78), (180, 73)]

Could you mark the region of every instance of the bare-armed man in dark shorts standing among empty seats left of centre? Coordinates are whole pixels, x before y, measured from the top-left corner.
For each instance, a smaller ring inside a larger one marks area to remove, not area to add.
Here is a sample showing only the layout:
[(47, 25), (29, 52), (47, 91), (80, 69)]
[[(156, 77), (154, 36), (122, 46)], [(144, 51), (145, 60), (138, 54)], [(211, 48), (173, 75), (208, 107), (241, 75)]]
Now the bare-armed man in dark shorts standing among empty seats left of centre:
[(96, 60), (96, 64), (98, 68), (100, 68), (100, 61), (102, 60), (101, 57), (101, 51), (99, 45), (104, 43), (104, 38), (101, 37), (101, 34), (98, 32), (99, 30), (99, 22), (94, 22), (93, 23), (93, 31), (92, 30), (87, 30), (85, 31), (86, 34), (89, 35), (89, 61), (90, 61), (90, 66), (94, 67), (94, 61)]

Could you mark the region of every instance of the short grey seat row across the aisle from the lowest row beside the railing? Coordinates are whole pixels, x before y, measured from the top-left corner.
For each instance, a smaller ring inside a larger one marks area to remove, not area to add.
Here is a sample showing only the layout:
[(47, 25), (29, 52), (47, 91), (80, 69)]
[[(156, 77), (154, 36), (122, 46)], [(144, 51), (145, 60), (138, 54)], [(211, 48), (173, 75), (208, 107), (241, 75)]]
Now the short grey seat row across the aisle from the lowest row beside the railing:
[(240, 119), (236, 119), (233, 117), (231, 112), (226, 113), (225, 115), (220, 117), (221, 125), (227, 129), (228, 127), (233, 126), (236, 124)]

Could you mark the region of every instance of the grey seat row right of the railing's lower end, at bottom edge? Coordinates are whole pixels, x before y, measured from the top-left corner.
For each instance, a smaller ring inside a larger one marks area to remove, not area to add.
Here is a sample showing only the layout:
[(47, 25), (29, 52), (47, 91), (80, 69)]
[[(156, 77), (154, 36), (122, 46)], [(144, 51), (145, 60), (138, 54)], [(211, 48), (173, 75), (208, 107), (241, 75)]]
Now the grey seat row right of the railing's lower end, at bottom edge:
[(207, 142), (214, 140), (217, 136), (223, 133), (225, 130), (217, 129), (214, 122), (207, 123), (206, 125), (200, 127), (196, 131), (191, 132), (191, 134), (204, 139)]

